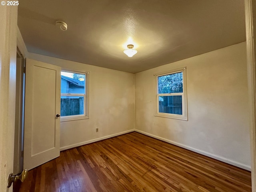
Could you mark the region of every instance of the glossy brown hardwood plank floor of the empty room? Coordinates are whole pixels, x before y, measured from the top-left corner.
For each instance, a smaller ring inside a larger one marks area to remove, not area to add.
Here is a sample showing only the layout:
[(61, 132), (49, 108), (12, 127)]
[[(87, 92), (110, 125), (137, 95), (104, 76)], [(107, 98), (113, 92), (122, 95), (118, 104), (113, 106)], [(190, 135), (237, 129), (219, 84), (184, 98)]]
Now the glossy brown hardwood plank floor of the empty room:
[(250, 172), (132, 132), (60, 152), (20, 192), (250, 192)]

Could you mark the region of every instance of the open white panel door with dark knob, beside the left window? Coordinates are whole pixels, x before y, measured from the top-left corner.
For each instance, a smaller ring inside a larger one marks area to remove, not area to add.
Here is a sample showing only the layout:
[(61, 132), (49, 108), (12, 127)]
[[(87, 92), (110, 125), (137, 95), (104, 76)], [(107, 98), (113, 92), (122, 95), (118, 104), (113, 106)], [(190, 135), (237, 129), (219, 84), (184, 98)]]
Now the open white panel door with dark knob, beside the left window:
[(24, 169), (60, 156), (59, 66), (26, 60)]

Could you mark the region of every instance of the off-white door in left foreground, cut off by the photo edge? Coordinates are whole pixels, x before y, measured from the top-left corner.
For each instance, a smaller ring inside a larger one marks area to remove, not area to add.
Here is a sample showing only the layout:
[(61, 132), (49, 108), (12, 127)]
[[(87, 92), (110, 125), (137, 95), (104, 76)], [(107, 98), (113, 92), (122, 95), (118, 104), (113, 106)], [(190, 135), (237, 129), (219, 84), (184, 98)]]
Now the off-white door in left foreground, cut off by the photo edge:
[(17, 15), (18, 6), (0, 6), (0, 192), (12, 192)]

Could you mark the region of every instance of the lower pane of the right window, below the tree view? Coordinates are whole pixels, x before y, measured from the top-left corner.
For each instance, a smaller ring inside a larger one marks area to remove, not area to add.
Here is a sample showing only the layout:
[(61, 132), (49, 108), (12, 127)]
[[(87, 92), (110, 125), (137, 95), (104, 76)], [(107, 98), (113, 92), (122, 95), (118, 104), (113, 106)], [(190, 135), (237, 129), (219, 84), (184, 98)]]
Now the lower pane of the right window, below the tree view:
[(159, 112), (182, 115), (182, 96), (159, 96)]

